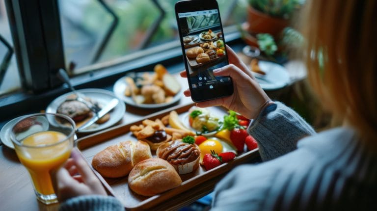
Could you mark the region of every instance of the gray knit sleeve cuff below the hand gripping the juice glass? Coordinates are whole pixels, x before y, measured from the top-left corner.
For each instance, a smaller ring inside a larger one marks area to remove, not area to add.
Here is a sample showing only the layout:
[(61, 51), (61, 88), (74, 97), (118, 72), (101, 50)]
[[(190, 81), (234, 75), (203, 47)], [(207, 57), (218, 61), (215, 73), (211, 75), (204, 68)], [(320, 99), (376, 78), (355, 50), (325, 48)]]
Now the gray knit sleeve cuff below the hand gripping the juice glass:
[(111, 196), (85, 195), (68, 199), (59, 211), (124, 211), (120, 201)]

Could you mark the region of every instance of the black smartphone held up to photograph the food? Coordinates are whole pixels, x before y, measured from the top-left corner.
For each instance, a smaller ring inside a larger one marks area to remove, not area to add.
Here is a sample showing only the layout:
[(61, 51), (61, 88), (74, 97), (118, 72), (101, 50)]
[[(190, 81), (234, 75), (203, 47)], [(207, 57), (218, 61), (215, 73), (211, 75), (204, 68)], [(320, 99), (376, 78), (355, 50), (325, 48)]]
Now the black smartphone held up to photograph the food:
[(213, 74), (229, 64), (217, 1), (181, 0), (175, 13), (191, 99), (203, 102), (232, 95), (232, 79)]

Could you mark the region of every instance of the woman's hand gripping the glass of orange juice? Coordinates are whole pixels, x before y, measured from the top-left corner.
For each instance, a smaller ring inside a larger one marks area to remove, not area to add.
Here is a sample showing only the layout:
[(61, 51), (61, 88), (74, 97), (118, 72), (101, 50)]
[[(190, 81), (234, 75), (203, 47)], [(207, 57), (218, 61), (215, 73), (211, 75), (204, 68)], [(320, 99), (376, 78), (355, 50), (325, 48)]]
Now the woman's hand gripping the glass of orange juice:
[(107, 195), (105, 188), (76, 149), (65, 165), (52, 175), (59, 202), (81, 195)]

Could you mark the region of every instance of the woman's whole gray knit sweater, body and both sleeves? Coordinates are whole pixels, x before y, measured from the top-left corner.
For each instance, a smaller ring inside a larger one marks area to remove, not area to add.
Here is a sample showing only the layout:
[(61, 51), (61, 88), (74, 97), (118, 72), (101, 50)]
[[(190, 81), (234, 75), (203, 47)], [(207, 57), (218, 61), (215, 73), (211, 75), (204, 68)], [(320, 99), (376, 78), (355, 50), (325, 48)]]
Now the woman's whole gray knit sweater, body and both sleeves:
[[(262, 111), (248, 132), (266, 162), (239, 166), (220, 181), (214, 211), (377, 210), (377, 158), (352, 129), (316, 134), (295, 111), (276, 103)], [(72, 198), (61, 206), (122, 209), (113, 197), (98, 196)]]

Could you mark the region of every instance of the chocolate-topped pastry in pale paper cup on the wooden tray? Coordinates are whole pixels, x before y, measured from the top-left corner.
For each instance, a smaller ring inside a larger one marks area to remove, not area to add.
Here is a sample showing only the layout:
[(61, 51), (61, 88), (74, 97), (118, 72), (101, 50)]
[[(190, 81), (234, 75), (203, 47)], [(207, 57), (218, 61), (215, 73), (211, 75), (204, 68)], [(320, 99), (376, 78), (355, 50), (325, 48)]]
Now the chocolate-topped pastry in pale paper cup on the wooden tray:
[(199, 148), (180, 139), (162, 144), (156, 154), (173, 165), (179, 174), (190, 173), (199, 166)]

